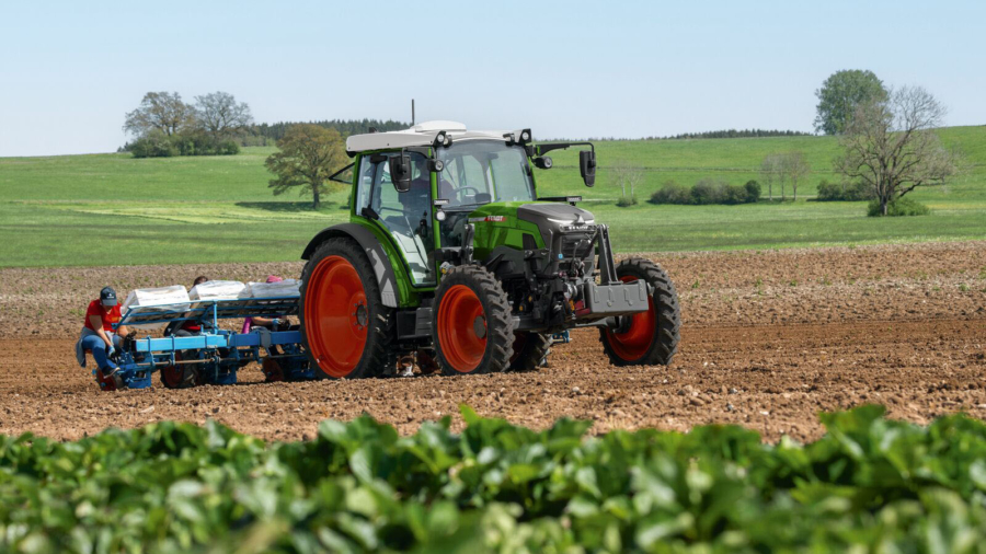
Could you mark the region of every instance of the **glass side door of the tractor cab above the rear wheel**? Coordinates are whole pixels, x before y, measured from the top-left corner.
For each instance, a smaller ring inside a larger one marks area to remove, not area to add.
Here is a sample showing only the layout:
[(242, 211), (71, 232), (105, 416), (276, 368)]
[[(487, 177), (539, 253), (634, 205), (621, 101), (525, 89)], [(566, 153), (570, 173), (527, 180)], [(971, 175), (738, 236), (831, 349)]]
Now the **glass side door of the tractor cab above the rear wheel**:
[(427, 158), (410, 152), (411, 189), (399, 193), (390, 178), (386, 154), (360, 157), (356, 215), (380, 226), (393, 239), (413, 285), (435, 285), (435, 267), (434, 263), (429, 263), (435, 240), (432, 234), (432, 178)]

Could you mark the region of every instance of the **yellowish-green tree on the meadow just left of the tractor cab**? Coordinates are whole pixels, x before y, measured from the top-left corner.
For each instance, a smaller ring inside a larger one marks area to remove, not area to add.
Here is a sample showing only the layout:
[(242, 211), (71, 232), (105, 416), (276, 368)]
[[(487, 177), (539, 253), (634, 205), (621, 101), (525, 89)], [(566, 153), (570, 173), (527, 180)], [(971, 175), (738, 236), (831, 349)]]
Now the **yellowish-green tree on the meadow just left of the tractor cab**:
[(268, 184), (274, 195), (300, 187), (299, 194), (310, 193), (312, 207), (318, 209), (321, 196), (331, 192), (329, 176), (348, 160), (342, 136), (335, 129), (299, 124), (285, 132), (277, 148), (280, 151), (264, 162), (267, 171), (277, 175)]

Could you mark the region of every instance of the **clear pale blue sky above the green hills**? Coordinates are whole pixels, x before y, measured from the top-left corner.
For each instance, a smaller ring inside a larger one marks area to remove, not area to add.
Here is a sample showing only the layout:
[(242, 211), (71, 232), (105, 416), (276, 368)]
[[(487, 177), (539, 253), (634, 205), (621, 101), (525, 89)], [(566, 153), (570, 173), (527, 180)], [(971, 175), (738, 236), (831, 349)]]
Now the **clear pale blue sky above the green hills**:
[(257, 123), (451, 119), (535, 138), (813, 130), (840, 69), (986, 124), (986, 1), (0, 0), (0, 157), (115, 151), (148, 91)]

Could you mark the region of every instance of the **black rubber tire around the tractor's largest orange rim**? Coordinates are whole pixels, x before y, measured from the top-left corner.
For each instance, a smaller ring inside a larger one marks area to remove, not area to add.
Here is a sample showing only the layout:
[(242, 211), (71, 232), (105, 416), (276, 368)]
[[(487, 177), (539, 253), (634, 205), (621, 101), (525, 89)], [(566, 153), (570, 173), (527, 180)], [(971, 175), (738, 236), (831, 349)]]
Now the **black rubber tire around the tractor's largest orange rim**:
[[(363, 346), (363, 354), (359, 356), (358, 362), (352, 370), (345, 374), (333, 376), (318, 359), (319, 348), (312, 348), (309, 333), (313, 332), (314, 325), (306, 318), (306, 305), (309, 300), (314, 300), (313, 295), (318, 291), (310, 290), (310, 279), (312, 273), (325, 258), (330, 256), (339, 256), (348, 262), (359, 280), (363, 282), (363, 290), (366, 296), (366, 342)], [(300, 331), (301, 341), (305, 350), (308, 353), (309, 360), (314, 373), (322, 379), (360, 379), (368, 377), (379, 377), (385, 372), (393, 369), (397, 363), (397, 351), (394, 349), (394, 315), (393, 309), (383, 305), (380, 297), (380, 285), (377, 282), (376, 273), (359, 245), (345, 238), (332, 238), (320, 244), (301, 272), (301, 298), (299, 299), (299, 315), (301, 320)]]

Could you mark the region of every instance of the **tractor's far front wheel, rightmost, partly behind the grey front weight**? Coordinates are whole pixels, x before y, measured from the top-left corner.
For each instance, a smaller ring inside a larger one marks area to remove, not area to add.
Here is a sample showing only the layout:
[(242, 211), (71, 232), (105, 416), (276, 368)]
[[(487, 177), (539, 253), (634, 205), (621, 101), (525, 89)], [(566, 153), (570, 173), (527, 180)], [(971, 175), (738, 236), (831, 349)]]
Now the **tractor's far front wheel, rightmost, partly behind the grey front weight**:
[(616, 267), (623, 281), (643, 279), (653, 290), (647, 311), (630, 316), (630, 324), (599, 330), (603, 350), (614, 366), (667, 366), (678, 349), (681, 311), (678, 292), (664, 269), (650, 259), (631, 257)]

